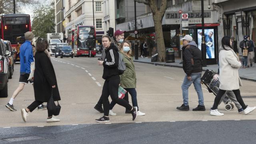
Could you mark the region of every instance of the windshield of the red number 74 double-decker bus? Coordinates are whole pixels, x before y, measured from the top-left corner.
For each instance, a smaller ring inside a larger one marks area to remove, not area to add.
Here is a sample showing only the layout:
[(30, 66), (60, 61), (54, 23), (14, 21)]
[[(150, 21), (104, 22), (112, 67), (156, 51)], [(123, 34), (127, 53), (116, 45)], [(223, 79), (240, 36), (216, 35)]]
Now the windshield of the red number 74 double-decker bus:
[(88, 50), (95, 46), (95, 34), (93, 26), (79, 27), (78, 48)]

